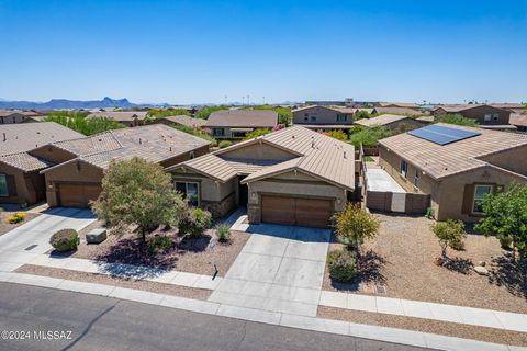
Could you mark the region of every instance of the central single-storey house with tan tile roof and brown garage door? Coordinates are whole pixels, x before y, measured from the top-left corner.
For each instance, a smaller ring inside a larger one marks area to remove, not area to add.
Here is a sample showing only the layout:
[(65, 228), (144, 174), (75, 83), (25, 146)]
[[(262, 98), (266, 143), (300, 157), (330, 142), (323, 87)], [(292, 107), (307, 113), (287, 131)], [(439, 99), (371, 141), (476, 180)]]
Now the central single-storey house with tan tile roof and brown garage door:
[(291, 126), (167, 170), (176, 188), (214, 217), (247, 206), (251, 224), (327, 227), (355, 199), (355, 162), (354, 146)]

